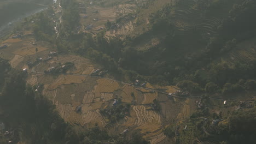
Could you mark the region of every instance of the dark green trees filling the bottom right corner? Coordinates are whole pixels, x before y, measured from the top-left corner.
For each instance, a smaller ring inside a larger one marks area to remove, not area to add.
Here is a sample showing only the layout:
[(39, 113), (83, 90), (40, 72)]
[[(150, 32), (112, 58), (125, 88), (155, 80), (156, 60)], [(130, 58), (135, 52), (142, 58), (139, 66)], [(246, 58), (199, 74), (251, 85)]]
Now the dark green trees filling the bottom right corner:
[[(230, 113), (228, 118), (223, 119), (222, 112), (219, 114), (207, 112), (207, 98), (202, 99), (203, 109), (193, 113), (190, 117), (190, 122), (195, 125), (190, 125), (189, 129), (195, 129), (198, 139), (208, 141), (214, 139), (219, 143), (254, 143), (255, 128), (252, 127), (256, 123), (255, 107), (252, 109), (242, 109)], [(200, 117), (208, 117), (202, 119)], [(216, 122), (213, 122), (212, 120)], [(166, 128), (166, 135), (171, 135), (173, 128)], [(206, 132), (207, 131), (207, 132)], [(189, 132), (188, 132), (189, 133)], [(210, 133), (207, 134), (207, 133)], [(184, 133), (182, 133), (184, 134)], [(171, 135), (172, 136), (172, 135)]]

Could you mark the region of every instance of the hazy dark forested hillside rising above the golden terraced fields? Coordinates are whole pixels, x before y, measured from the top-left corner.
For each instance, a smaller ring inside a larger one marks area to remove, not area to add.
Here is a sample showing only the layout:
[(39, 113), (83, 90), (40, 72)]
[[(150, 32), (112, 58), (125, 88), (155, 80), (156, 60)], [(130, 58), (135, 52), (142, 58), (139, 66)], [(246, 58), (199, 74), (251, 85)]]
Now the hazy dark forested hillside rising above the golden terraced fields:
[[(122, 79), (129, 77), (133, 81), (139, 75), (140, 79), (160, 85), (179, 83), (183, 87), (187, 85), (184, 83), (190, 83), (198, 92), (202, 92), (207, 83), (218, 89), (228, 83), (226, 88), (234, 85), (232, 87), (239, 91), (240, 85), (248, 87), (255, 79), (255, 56), (248, 61), (229, 60), (234, 58), (229, 57), (229, 53), (238, 49), (238, 45), (255, 37), (254, 1), (180, 0), (150, 14), (148, 31), (136, 37), (126, 35), (123, 40), (107, 39), (104, 32), (93, 38), (88, 33), (75, 33), (79, 26), (75, 18), (78, 4), (67, 3), (73, 5), (72, 8), (65, 4), (63, 1), (61, 37), (56, 42), (59, 51), (91, 57), (117, 75), (123, 75)], [(70, 15), (72, 19), (65, 18)], [(151, 43), (154, 38), (158, 39), (157, 44), (141, 50), (139, 46)], [(240, 79), (247, 84), (242, 82), (237, 86)]]

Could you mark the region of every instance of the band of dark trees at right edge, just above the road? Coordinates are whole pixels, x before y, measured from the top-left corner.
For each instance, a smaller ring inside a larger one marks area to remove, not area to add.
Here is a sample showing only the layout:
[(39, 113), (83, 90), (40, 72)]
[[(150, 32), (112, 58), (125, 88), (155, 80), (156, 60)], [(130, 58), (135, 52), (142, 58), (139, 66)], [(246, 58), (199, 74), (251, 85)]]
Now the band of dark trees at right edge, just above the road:
[(177, 86), (191, 93), (231, 94), (251, 91), (256, 88), (255, 68), (255, 61), (213, 63), (208, 69), (196, 70), (194, 74), (185, 76), (187, 80), (178, 81)]

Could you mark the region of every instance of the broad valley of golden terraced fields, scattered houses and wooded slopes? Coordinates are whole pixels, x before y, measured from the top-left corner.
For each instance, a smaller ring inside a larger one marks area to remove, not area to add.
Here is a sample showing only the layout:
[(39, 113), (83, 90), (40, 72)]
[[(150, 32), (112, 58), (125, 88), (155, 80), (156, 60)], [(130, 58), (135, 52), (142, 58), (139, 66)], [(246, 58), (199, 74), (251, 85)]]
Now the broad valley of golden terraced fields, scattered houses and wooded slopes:
[(150, 144), (226, 142), (221, 130), (255, 110), (255, 35), (224, 43), (224, 16), (200, 2), (57, 1), (0, 40), (0, 58), (77, 135), (97, 127)]

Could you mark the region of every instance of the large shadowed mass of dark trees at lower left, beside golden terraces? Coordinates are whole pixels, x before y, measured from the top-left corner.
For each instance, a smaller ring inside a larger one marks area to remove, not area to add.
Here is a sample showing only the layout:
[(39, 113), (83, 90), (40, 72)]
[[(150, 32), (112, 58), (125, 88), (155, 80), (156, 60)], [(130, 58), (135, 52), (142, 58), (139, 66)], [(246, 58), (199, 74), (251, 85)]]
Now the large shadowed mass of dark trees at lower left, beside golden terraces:
[(9, 69), (4, 77), (0, 95), (1, 118), (7, 129), (14, 129), (14, 142), (20, 141), (21, 137), (30, 143), (65, 142), (63, 138), (68, 124), (50, 101), (34, 93), (31, 86), (26, 86), (26, 73)]

